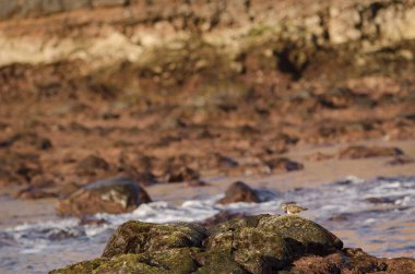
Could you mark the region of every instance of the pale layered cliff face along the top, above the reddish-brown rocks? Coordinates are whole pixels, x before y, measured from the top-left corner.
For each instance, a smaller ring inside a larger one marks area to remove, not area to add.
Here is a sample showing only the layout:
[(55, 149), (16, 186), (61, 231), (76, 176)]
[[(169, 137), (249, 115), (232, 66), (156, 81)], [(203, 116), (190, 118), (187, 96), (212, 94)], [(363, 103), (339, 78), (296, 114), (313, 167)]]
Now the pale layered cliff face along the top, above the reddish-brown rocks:
[(299, 76), (328, 48), (354, 52), (352, 67), (382, 49), (404, 61), (414, 53), (412, 0), (36, 0), (2, 1), (0, 10), (0, 65), (82, 60), (85, 73), (130, 61), (166, 80), (212, 68), (238, 74), (249, 53), (261, 69)]

